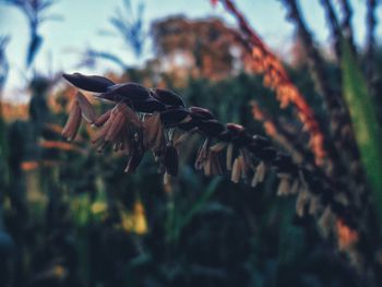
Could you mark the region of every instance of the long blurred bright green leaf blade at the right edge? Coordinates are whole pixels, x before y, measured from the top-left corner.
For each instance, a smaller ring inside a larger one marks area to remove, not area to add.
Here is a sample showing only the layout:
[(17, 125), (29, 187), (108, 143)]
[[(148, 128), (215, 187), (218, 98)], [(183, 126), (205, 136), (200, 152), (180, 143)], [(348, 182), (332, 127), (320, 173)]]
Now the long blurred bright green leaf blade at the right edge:
[(382, 135), (374, 109), (375, 105), (346, 41), (343, 41), (341, 64), (345, 100), (350, 112), (361, 160), (372, 189), (374, 206), (382, 225)]

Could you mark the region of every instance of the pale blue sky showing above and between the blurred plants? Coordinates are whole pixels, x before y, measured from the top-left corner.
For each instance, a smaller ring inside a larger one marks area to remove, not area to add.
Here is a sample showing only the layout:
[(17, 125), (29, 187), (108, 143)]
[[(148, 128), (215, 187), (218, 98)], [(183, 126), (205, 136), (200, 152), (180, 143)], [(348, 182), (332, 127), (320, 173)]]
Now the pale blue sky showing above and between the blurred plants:
[[(25, 67), (26, 47), (28, 44), (28, 27), (24, 15), (15, 8), (1, 4), (0, 0), (0, 35), (9, 35), (11, 41), (5, 55), (10, 61), (11, 71), (5, 83), (4, 98), (23, 100), (23, 88), (31, 77), (32, 71)], [(110, 62), (102, 62), (96, 69), (79, 69), (81, 51), (86, 47), (108, 50), (122, 57), (129, 64), (142, 62), (134, 59), (123, 43), (116, 37), (105, 37), (102, 31), (112, 31), (109, 23), (117, 9), (122, 9), (122, 0), (58, 0), (49, 10), (49, 14), (57, 14), (60, 21), (46, 22), (40, 27), (44, 43), (38, 52), (34, 68), (43, 74), (57, 71), (103, 73), (108, 70), (118, 71), (118, 67)], [(141, 0), (131, 0), (136, 7)], [(153, 20), (175, 14), (188, 17), (219, 16), (229, 25), (235, 26), (235, 20), (222, 5), (212, 7), (210, 0), (143, 0), (145, 4), (144, 19), (147, 27)], [(301, 10), (315, 39), (329, 45), (330, 34), (325, 24), (324, 11), (319, 0), (300, 0)], [(334, 1), (336, 2), (336, 1)], [(365, 0), (350, 0), (355, 10), (353, 27), (356, 41), (365, 43)], [(237, 0), (240, 11), (244, 13), (252, 26), (258, 31), (265, 43), (280, 56), (287, 57), (294, 38), (294, 26), (286, 21), (286, 11), (277, 0)], [(377, 10), (379, 20), (382, 20), (382, 5)], [(378, 25), (377, 38), (382, 38), (382, 24)], [(150, 57), (150, 52), (146, 53)]]

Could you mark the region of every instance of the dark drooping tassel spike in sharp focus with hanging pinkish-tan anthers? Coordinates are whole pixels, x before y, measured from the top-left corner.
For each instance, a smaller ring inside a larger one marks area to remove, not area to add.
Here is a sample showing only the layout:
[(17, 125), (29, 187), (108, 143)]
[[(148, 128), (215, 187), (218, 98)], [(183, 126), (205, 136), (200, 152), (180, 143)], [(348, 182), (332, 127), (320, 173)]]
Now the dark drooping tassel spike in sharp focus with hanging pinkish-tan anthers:
[(309, 212), (327, 218), (331, 214), (355, 226), (356, 216), (349, 213), (348, 203), (335, 196), (339, 194), (337, 187), (324, 176), (295, 165), (289, 155), (277, 152), (267, 139), (249, 134), (242, 125), (223, 124), (205, 108), (187, 108), (184, 101), (168, 89), (146, 88), (136, 83), (115, 84), (106, 77), (80, 73), (63, 74), (63, 77), (115, 106), (98, 117), (87, 98), (77, 93), (62, 135), (74, 140), (83, 118), (96, 129), (92, 142), (97, 151), (112, 145), (115, 151), (128, 156), (126, 172), (133, 172), (143, 155), (152, 151), (165, 181), (177, 176), (180, 144), (198, 132), (205, 141), (198, 151), (194, 166), (206, 176), (228, 175), (234, 182), (244, 181), (255, 187), (272, 167), (279, 178), (277, 194), (298, 195), (299, 215)]

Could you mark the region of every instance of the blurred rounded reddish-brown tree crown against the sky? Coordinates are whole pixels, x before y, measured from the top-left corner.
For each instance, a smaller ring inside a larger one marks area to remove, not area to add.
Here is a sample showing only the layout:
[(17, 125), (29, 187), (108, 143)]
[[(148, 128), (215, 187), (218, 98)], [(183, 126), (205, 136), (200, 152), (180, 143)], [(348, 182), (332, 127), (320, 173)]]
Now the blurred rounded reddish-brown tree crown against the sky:
[(184, 69), (193, 76), (222, 80), (249, 65), (250, 53), (219, 19), (169, 16), (152, 24), (152, 35), (164, 69), (177, 73)]

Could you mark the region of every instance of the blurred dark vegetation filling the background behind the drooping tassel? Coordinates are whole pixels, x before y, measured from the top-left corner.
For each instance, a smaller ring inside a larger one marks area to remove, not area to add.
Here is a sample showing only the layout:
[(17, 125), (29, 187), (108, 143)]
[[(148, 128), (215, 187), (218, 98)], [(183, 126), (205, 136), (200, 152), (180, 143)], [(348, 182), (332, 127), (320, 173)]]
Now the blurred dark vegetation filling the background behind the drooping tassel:
[[(322, 214), (296, 214), (296, 196), (276, 196), (277, 170), (271, 169), (255, 188), (232, 183), (229, 176), (206, 178), (193, 168), (199, 135), (181, 146), (180, 172), (170, 184), (163, 184), (148, 156), (127, 176), (126, 158), (109, 150), (99, 155), (92, 147), (92, 129), (83, 125), (72, 144), (62, 141), (75, 89), (62, 83), (60, 73), (36, 71), (27, 105), (0, 101), (2, 286), (380, 286), (382, 50), (374, 39), (377, 1), (366, 1), (366, 48), (353, 43), (349, 3), (339, 1), (342, 20), (331, 14), (331, 1), (321, 1), (336, 39), (331, 58), (320, 56), (296, 2), (282, 1), (299, 36), (294, 61), (287, 59), (283, 67), (315, 115), (324, 156), (314, 150), (312, 132), (294, 104), (280, 108), (277, 87), (267, 84), (266, 72), (259, 73), (252, 55), (259, 47), (255, 32), (246, 31), (232, 2), (212, 2), (236, 12), (238, 27), (218, 19), (170, 16), (152, 23), (148, 33), (144, 4), (127, 1), (127, 14), (111, 19), (108, 36), (123, 39), (138, 58), (151, 39), (153, 58), (131, 65), (107, 51), (84, 49), (82, 64), (115, 62), (123, 73), (106, 76), (116, 82), (171, 88), (188, 106), (270, 136), (297, 165), (321, 170), (339, 187), (337, 194), (350, 202), (344, 205), (357, 214), (356, 224), (338, 217), (326, 227)], [(43, 15), (49, 15), (53, 1), (0, 3), (16, 5), (28, 19), (31, 69), (44, 45)], [(9, 70), (9, 40), (0, 37), (0, 88)], [(92, 101), (97, 112), (106, 109)]]

